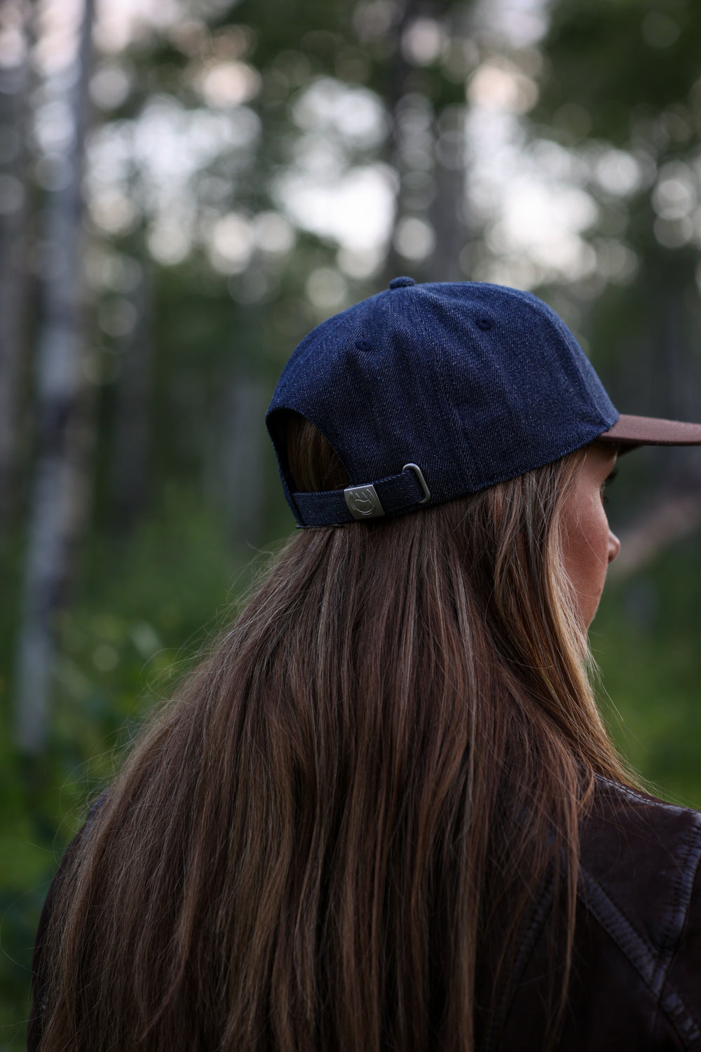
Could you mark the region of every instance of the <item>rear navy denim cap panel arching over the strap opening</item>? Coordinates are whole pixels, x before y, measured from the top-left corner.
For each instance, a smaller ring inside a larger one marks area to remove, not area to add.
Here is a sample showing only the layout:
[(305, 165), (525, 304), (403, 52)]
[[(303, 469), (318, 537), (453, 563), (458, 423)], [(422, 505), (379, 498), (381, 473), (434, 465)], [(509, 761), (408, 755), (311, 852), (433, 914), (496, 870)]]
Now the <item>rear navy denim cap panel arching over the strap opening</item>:
[[(420, 465), (431, 487), (437, 471), (458, 485), (455, 442), (438, 450), (444, 397), (430, 343), (417, 341), (420, 319), (408, 298), (420, 286), (398, 286), (318, 326), (294, 352), (275, 389), (268, 420), (281, 408), (311, 420), (331, 443), (352, 485)], [(455, 437), (457, 439), (457, 436)], [(274, 440), (274, 436), (273, 436)]]

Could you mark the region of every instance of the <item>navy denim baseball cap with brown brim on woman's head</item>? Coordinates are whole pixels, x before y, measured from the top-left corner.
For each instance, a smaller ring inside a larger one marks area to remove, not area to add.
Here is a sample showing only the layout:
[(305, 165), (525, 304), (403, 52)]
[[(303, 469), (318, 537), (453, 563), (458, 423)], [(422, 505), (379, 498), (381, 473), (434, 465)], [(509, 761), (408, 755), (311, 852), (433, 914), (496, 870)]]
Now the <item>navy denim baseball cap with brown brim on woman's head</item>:
[[(289, 410), (327, 439), (348, 487), (294, 490)], [(570, 329), (530, 292), (412, 278), (314, 328), (285, 366), (266, 423), (301, 526), (440, 504), (594, 439), (701, 443), (699, 424), (619, 414)]]

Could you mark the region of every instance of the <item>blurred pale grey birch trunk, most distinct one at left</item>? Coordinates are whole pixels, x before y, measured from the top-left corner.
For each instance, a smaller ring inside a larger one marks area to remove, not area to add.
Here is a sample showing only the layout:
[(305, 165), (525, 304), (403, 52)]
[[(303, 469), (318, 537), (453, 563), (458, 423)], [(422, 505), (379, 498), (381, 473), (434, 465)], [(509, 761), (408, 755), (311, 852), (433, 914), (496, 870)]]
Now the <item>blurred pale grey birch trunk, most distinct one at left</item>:
[(28, 512), (23, 609), (16, 672), (17, 746), (45, 745), (55, 664), (55, 619), (65, 590), (77, 517), (84, 505), (81, 464), (80, 231), (87, 79), (95, 0), (84, 0), (76, 77), (69, 78), (73, 141), (67, 178), (48, 191), (45, 239), (51, 266), (44, 277), (37, 347), (37, 457)]

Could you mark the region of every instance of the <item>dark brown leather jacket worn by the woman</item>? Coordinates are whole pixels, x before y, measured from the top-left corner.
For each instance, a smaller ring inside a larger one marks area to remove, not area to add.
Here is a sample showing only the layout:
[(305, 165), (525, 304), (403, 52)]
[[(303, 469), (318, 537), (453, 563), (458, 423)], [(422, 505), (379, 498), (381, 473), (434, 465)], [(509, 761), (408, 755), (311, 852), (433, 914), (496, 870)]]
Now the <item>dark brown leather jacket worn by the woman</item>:
[[(557, 1052), (701, 1052), (701, 813), (599, 780), (584, 820), (575, 951)], [(29, 1052), (41, 1035), (41, 936)], [(510, 989), (479, 1052), (543, 1047), (551, 987), (535, 904)]]

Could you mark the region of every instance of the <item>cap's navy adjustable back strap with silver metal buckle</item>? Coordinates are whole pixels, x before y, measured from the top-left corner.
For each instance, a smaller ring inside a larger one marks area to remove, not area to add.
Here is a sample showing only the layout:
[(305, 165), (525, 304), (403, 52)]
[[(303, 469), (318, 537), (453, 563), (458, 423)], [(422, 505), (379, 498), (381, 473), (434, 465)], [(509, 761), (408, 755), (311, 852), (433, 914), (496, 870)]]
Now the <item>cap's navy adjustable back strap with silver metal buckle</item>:
[(398, 514), (431, 500), (421, 469), (405, 464), (400, 474), (378, 482), (317, 493), (292, 493), (304, 526), (335, 526), (360, 519)]

